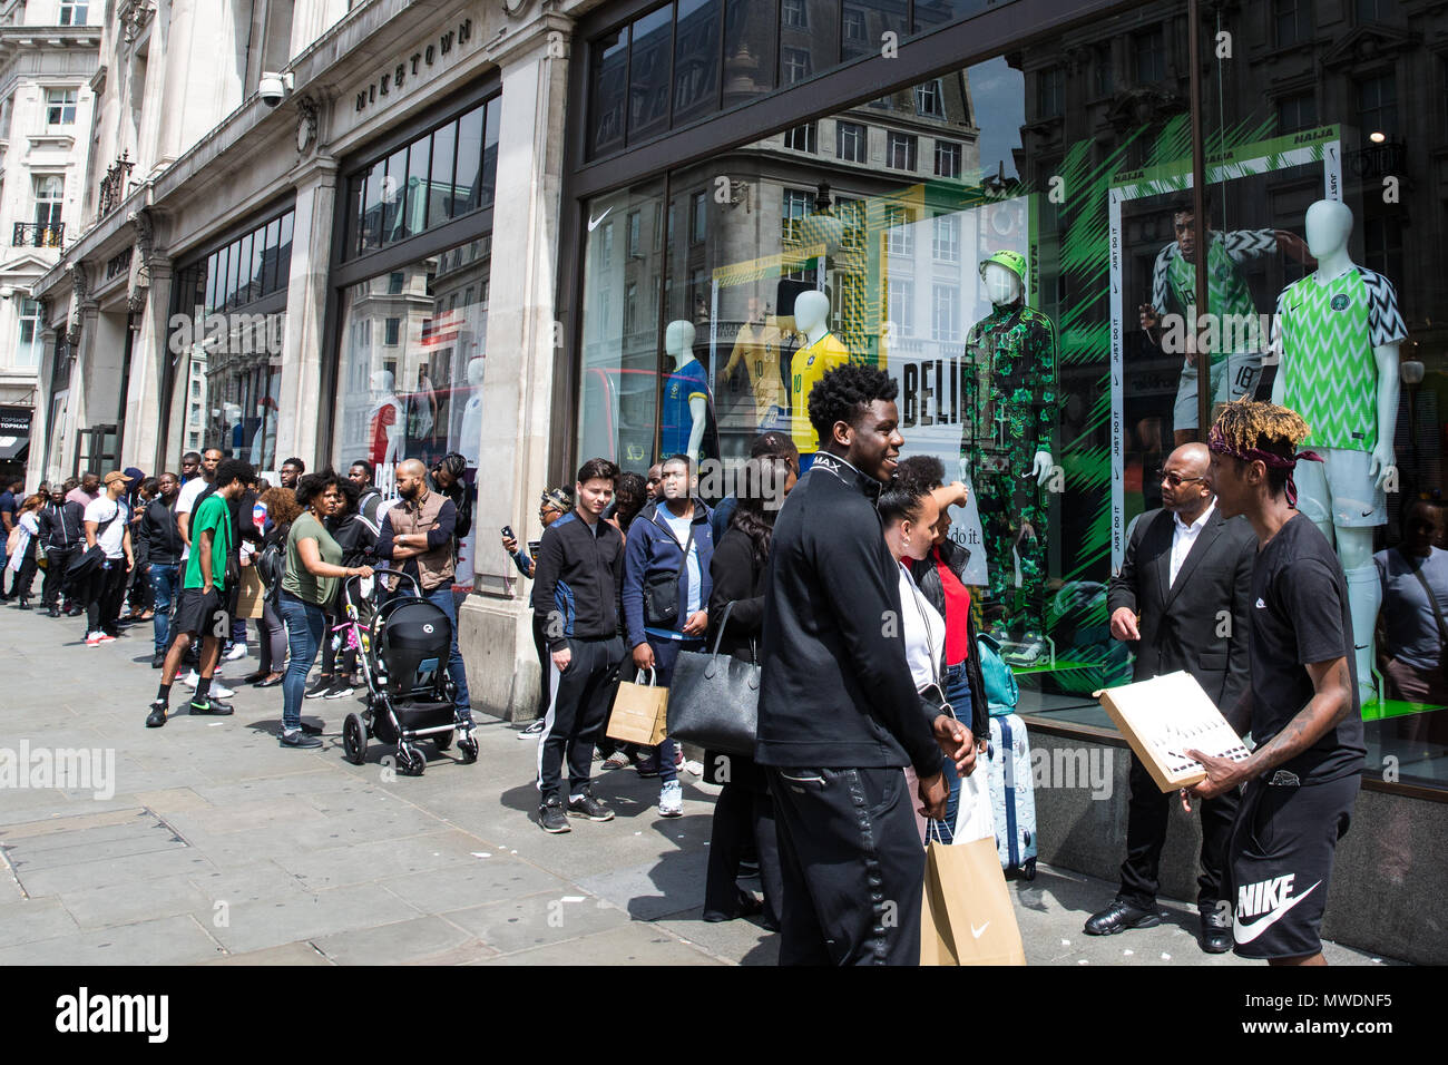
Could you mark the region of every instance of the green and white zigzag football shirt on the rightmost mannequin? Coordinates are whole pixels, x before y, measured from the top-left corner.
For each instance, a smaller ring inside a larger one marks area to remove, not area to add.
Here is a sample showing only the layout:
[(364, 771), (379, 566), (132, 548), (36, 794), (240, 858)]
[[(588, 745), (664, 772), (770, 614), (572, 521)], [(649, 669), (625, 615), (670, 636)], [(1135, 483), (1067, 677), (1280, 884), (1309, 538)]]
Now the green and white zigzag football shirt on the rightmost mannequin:
[(1273, 332), (1280, 372), (1286, 374), (1283, 404), (1312, 429), (1303, 446), (1373, 451), (1373, 349), (1407, 336), (1393, 283), (1364, 267), (1352, 267), (1326, 284), (1309, 274), (1281, 290)]

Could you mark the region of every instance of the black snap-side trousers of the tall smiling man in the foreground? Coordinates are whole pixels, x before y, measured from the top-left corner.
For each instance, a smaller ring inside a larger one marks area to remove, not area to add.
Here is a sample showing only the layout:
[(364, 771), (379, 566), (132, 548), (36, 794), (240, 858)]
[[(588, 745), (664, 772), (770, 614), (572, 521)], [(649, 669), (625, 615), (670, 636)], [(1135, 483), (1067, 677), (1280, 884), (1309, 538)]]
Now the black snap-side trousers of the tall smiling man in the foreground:
[(769, 767), (780, 965), (918, 965), (925, 851), (899, 767)]

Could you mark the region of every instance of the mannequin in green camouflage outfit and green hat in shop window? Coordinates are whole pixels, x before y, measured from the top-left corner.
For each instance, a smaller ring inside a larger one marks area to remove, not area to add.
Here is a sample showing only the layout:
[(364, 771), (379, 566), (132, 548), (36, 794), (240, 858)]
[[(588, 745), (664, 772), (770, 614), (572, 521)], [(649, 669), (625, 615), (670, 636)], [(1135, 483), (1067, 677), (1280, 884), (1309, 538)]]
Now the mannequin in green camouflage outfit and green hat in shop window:
[[(1045, 633), (1044, 487), (1054, 469), (1056, 327), (1025, 306), (1025, 258), (1001, 251), (980, 264), (993, 304), (966, 338), (970, 417), (960, 455), (980, 510), (988, 600), (1030, 642)], [(1019, 584), (1016, 568), (1019, 567)]]

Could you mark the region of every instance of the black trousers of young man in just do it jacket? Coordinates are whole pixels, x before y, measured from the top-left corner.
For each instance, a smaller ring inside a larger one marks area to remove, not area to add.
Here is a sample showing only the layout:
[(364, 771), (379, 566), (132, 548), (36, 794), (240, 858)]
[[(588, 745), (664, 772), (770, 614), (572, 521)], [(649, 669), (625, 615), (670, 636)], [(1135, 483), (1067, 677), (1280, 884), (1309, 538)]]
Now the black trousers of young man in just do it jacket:
[(594, 640), (571, 636), (568, 648), (572, 659), (566, 669), (559, 672), (549, 662), (553, 698), (539, 738), (539, 791), (544, 801), (559, 794), (565, 752), (569, 791), (563, 798), (588, 787), (594, 743), (608, 717), (610, 681), (624, 661), (624, 642), (618, 636)]

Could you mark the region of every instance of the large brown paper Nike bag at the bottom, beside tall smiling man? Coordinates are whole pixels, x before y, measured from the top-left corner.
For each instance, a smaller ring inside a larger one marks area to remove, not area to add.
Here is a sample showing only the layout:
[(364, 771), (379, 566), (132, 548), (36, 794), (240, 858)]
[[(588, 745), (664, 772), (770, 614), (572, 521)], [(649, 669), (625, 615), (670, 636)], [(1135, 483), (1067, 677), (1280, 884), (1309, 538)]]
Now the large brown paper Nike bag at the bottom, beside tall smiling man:
[(1025, 965), (995, 839), (925, 851), (921, 965)]

